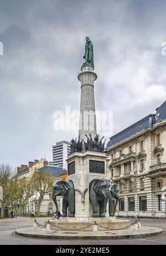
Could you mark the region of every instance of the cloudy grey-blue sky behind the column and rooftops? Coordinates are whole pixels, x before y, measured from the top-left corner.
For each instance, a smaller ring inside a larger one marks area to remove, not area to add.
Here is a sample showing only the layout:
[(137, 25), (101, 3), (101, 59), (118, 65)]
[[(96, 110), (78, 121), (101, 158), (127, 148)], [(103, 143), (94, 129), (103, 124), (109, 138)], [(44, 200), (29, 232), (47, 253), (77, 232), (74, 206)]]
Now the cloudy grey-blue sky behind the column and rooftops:
[(0, 0), (0, 163), (52, 160), (54, 112), (80, 108), (85, 37), (94, 44), (98, 111), (113, 133), (166, 100), (165, 0)]

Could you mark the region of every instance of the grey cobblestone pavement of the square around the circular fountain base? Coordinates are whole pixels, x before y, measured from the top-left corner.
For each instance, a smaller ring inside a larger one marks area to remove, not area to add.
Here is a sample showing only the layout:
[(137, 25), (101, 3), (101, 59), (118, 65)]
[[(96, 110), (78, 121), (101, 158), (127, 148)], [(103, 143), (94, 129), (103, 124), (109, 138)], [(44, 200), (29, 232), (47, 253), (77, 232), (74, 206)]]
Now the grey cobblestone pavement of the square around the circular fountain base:
[[(44, 220), (49, 218), (38, 218), (39, 223), (43, 224)], [(14, 235), (14, 231), (19, 228), (32, 227), (33, 221), (30, 218), (18, 217), (15, 219), (0, 220), (0, 245), (2, 244), (52, 244), (52, 245), (119, 245), (119, 244), (144, 244), (144, 245), (166, 245), (166, 233), (163, 235), (127, 239), (127, 240), (44, 240), (35, 238), (23, 238)], [(133, 219), (132, 219), (133, 221)], [(161, 228), (166, 232), (166, 219), (141, 219), (141, 224), (147, 227)]]

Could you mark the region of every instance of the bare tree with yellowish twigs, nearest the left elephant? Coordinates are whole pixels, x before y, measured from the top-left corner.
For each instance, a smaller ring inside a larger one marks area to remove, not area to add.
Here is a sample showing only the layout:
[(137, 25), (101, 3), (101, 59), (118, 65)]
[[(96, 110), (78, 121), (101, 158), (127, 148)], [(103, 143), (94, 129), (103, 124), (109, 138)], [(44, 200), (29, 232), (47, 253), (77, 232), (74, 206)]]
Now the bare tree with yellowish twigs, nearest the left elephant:
[(39, 193), (39, 198), (37, 200), (37, 214), (39, 215), (44, 195), (51, 193), (53, 190), (55, 178), (50, 173), (36, 171), (33, 175), (32, 182), (34, 184), (35, 191)]

